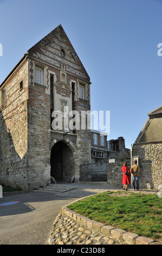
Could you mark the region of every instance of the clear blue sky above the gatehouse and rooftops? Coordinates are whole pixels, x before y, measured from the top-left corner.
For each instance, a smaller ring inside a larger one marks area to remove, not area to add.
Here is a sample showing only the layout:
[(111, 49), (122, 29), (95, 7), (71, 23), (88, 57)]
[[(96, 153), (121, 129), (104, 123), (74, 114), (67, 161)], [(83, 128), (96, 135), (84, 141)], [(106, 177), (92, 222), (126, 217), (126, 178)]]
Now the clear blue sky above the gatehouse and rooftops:
[(87, 70), (91, 111), (110, 111), (109, 139), (134, 143), (162, 105), (161, 0), (0, 0), (0, 83), (60, 24)]

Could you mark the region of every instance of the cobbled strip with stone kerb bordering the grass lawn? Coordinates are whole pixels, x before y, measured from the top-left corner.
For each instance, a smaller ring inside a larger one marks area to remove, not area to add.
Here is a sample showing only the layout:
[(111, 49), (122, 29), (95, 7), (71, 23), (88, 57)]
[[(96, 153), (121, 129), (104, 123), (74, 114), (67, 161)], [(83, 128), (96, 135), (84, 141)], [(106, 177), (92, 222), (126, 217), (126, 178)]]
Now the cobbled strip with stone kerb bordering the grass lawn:
[[(86, 197), (87, 198), (87, 197)], [(78, 202), (78, 199), (73, 203)], [(62, 206), (62, 211), (57, 215), (54, 222), (54, 236), (50, 237), (48, 244), (59, 245), (162, 245), (161, 242), (155, 241), (148, 237), (127, 232), (125, 230), (105, 225), (101, 222), (90, 220), (89, 218), (77, 214), (67, 208), (67, 204)], [(68, 223), (66, 223), (67, 221)], [(65, 227), (64, 227), (65, 225)], [(67, 225), (67, 226), (66, 226)], [(58, 226), (61, 228), (59, 230)], [(57, 230), (57, 231), (56, 231)], [(61, 230), (64, 231), (61, 234)], [(68, 231), (69, 230), (69, 231)], [(77, 230), (77, 231), (76, 231)], [(82, 232), (81, 232), (82, 231)], [(60, 233), (60, 237), (55, 237)], [(89, 236), (87, 235), (89, 232)], [(65, 236), (66, 235), (66, 236)], [(66, 239), (62, 239), (66, 237)], [(57, 238), (57, 239), (56, 239)]]

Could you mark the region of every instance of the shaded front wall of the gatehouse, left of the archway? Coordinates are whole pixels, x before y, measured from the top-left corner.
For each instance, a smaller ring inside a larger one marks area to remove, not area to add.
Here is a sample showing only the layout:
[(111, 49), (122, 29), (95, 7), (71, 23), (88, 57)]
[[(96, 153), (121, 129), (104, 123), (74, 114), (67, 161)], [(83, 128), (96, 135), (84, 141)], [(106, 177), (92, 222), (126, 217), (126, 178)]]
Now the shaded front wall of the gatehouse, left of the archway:
[(46, 93), (47, 84), (38, 85), (32, 78), (28, 100), (28, 190), (50, 180), (50, 95)]

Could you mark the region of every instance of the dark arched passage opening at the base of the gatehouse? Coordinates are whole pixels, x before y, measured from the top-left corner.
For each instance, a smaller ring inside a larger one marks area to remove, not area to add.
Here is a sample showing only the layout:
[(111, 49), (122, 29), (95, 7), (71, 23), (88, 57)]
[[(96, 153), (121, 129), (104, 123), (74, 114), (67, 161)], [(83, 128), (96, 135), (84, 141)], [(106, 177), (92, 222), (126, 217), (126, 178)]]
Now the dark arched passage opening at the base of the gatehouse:
[(73, 148), (67, 142), (55, 142), (50, 154), (50, 174), (58, 181), (68, 182), (75, 173)]

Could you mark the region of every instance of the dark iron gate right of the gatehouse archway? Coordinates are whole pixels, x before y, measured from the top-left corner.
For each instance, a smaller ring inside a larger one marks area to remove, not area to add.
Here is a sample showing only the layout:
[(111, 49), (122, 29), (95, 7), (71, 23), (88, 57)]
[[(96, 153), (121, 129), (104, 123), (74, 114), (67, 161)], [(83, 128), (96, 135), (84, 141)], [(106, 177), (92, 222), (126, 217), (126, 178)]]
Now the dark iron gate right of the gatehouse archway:
[(81, 164), (80, 181), (107, 181), (107, 162)]

